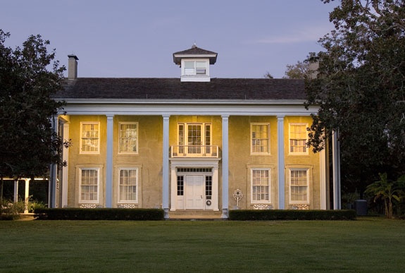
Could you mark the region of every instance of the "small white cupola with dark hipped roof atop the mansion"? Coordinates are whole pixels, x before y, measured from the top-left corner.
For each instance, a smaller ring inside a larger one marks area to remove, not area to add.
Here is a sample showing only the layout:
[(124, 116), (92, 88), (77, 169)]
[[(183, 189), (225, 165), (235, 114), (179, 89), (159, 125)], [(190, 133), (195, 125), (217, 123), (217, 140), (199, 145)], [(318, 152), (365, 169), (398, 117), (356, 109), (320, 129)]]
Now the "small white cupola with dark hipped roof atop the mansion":
[(209, 82), (209, 65), (216, 63), (217, 56), (218, 53), (194, 44), (191, 49), (173, 53), (173, 61), (181, 68), (182, 82)]

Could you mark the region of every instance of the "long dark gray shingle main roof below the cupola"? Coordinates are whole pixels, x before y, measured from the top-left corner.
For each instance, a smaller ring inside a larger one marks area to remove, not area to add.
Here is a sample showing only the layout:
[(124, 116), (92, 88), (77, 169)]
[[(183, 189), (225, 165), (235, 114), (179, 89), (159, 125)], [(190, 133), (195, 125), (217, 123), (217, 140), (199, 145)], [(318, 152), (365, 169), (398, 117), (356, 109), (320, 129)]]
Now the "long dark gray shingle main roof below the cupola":
[(77, 78), (66, 80), (56, 99), (305, 99), (304, 80), (211, 78)]

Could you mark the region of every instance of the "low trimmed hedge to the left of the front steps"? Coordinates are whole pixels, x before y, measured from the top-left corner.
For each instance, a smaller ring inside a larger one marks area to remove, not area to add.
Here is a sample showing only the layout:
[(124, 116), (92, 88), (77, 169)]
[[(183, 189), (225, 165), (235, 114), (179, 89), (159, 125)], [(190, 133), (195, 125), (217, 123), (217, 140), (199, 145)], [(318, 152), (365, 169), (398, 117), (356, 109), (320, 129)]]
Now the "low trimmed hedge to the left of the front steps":
[(116, 209), (116, 208), (64, 208), (35, 210), (35, 217), (41, 220), (131, 220), (157, 221), (164, 219), (160, 209)]

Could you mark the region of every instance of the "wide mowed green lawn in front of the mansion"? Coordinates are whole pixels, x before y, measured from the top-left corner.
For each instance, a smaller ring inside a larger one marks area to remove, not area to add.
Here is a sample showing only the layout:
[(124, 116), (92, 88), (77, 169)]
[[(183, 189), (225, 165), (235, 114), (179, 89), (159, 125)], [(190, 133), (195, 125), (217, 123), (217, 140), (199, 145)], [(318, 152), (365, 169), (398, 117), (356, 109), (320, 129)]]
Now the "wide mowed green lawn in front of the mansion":
[(0, 272), (404, 272), (405, 221), (2, 221)]

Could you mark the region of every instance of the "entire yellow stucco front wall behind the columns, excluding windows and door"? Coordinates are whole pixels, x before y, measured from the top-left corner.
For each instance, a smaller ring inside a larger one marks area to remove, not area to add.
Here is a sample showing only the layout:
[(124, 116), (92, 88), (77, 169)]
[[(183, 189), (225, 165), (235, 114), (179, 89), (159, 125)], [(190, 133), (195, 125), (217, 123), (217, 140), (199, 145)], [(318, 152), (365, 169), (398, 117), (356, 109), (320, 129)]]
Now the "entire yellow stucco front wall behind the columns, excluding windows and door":
[[(100, 123), (99, 154), (80, 154), (80, 122)], [(118, 123), (138, 123), (138, 153), (118, 153)], [(218, 145), (222, 156), (222, 119), (220, 116), (170, 116), (169, 145), (177, 145), (177, 123), (211, 123), (211, 145)], [(251, 123), (270, 124), (270, 153), (251, 154)], [(270, 203), (278, 208), (278, 130), (276, 116), (230, 116), (229, 118), (229, 207), (236, 205), (232, 194), (239, 188), (244, 198), (239, 202), (242, 209), (253, 208), (251, 202), (251, 169), (270, 169)], [(285, 208), (289, 208), (288, 169), (310, 169), (309, 207), (320, 208), (320, 156), (309, 151), (304, 155), (289, 154), (289, 123), (311, 124), (309, 116), (285, 116)], [(106, 172), (106, 116), (69, 116), (69, 131), (72, 146), (68, 158), (68, 206), (77, 207), (79, 182), (77, 168), (80, 166), (101, 167), (100, 205), (105, 206)], [(118, 168), (138, 169), (138, 207), (160, 207), (162, 202), (162, 116), (114, 116), (113, 118), (113, 207), (117, 205)], [(219, 162), (219, 207), (222, 207), (222, 161)], [(171, 186), (171, 185), (170, 185)]]

